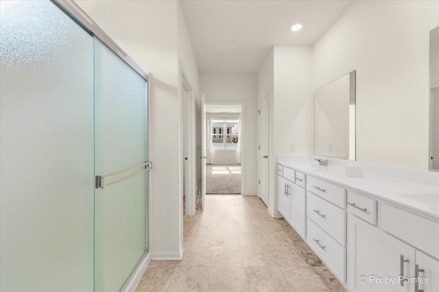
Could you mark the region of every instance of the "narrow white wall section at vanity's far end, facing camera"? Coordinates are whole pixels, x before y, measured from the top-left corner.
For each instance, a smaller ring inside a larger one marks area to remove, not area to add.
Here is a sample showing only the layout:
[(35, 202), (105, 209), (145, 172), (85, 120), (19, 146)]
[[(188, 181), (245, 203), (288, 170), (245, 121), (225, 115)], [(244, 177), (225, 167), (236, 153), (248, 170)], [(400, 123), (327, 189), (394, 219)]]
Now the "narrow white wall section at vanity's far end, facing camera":
[[(311, 78), (310, 46), (274, 46), (276, 155), (310, 153)], [(294, 152), (290, 151), (290, 144), (295, 144)]]

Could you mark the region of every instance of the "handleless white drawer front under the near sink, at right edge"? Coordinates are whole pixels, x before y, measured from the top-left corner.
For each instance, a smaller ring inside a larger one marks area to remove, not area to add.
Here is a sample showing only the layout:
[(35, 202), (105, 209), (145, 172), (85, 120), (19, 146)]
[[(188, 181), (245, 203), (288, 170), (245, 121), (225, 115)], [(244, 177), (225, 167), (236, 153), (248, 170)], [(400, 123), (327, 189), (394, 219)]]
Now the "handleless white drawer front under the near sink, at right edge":
[(385, 202), (379, 202), (377, 209), (379, 228), (439, 258), (439, 222)]

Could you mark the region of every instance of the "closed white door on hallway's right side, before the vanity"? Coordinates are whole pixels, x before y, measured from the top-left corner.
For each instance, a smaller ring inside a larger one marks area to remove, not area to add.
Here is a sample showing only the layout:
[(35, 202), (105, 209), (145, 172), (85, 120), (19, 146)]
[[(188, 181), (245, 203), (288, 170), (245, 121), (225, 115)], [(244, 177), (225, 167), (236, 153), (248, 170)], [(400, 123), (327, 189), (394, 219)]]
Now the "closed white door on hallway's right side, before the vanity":
[(259, 102), (259, 198), (268, 206), (268, 94)]

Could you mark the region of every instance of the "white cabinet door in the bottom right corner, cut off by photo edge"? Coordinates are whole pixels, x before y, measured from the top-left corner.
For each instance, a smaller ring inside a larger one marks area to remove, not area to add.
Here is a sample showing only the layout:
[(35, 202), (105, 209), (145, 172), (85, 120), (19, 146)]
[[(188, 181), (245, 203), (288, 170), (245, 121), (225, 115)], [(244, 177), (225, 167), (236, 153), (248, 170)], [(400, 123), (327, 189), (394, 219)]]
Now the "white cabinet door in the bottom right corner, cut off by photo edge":
[(427, 256), (427, 254), (424, 254), (419, 250), (416, 250), (416, 265), (414, 276), (420, 277), (418, 287), (415, 287), (417, 289), (415, 289), (414, 291), (439, 291), (439, 261), (432, 258), (431, 256)]

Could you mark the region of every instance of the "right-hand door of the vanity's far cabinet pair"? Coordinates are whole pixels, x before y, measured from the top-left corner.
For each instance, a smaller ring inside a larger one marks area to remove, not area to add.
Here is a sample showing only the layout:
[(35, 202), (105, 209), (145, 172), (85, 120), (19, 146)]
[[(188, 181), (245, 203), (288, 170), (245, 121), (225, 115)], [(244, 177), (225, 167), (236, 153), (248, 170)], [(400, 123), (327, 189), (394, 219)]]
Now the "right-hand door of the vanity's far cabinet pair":
[(305, 194), (305, 189), (299, 187), (295, 183), (289, 183), (290, 196), (290, 214), (289, 218), (293, 228), (296, 230), (298, 235), (305, 239), (305, 222), (307, 219), (307, 208), (306, 201), (307, 197)]

